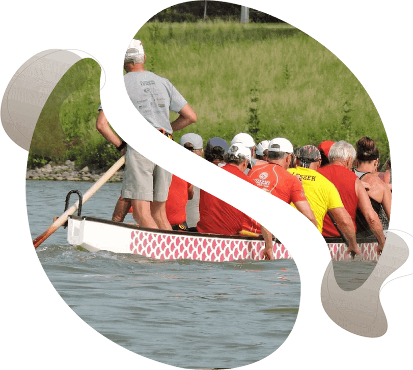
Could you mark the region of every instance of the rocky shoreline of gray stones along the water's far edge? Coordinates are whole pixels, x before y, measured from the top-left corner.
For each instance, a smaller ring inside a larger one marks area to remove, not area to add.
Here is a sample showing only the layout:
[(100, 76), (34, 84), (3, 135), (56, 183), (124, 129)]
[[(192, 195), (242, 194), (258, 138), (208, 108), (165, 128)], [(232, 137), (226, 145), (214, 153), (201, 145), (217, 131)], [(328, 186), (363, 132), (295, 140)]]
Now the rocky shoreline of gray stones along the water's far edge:
[[(67, 160), (62, 165), (49, 162), (40, 168), (26, 168), (26, 180), (96, 182), (105, 172), (104, 169), (90, 170), (87, 166), (79, 169), (74, 162)], [(123, 170), (119, 170), (107, 182), (122, 182), (122, 178)]]

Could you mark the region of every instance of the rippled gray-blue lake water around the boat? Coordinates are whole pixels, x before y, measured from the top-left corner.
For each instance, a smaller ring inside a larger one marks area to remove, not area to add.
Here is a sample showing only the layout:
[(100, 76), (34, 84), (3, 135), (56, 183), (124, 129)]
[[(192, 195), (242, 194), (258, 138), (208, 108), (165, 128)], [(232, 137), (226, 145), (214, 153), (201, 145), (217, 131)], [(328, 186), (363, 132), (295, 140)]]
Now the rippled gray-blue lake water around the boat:
[[(92, 185), (26, 181), (32, 240), (64, 212), (70, 190), (85, 194)], [(82, 215), (111, 219), (120, 189), (103, 185)], [(133, 222), (130, 214), (125, 222)], [(154, 261), (78, 250), (66, 233), (60, 227), (36, 249), (46, 276), (80, 319), (132, 353), (187, 369), (241, 367), (270, 356), (295, 325), (301, 280), (293, 260)], [(343, 290), (360, 287), (374, 267), (334, 264)]]

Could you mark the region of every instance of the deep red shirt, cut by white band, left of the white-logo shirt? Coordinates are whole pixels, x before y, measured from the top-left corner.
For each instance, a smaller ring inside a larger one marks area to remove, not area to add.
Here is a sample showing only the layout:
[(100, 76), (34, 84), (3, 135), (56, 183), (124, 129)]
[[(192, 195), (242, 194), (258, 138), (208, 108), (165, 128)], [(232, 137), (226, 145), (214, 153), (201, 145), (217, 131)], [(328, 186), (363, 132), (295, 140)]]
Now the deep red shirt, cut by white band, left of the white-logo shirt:
[[(226, 164), (221, 168), (256, 186), (238, 167)], [(244, 217), (246, 217), (244, 212), (224, 202), (215, 195), (203, 189), (200, 190), (199, 222), (197, 223), (198, 232), (236, 235), (239, 231), (243, 230)]]

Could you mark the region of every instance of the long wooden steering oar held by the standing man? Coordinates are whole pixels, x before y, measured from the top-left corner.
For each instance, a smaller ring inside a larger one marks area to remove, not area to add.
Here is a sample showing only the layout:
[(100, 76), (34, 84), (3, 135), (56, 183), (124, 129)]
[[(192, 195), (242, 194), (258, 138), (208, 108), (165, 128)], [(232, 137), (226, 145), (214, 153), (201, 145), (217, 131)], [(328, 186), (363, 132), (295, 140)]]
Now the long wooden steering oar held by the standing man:
[[(83, 195), (82, 205), (85, 204), (88, 199), (98, 191), (102, 185), (109, 180), (115, 172), (122, 167), (125, 163), (125, 156), (122, 156), (118, 159), (118, 161), (107, 170), (107, 172), (95, 182), (95, 184)], [(33, 240), (33, 246), (37, 248), (40, 244), (42, 244), (51, 234), (53, 234), (56, 230), (59, 229), (67, 221), (67, 216), (73, 214), (77, 207), (79, 206), (79, 201), (77, 201), (72, 207), (70, 207), (62, 216), (60, 216), (56, 221), (54, 221), (49, 228), (42, 234), (39, 235), (35, 240)]]

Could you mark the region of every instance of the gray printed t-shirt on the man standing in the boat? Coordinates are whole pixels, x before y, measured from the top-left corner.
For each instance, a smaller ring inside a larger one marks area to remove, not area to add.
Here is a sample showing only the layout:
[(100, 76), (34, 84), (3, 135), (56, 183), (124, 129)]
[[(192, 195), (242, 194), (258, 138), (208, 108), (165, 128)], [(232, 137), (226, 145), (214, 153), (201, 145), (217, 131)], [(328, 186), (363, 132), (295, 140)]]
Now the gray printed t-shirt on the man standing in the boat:
[(156, 129), (172, 134), (169, 111), (178, 113), (187, 101), (164, 77), (153, 72), (129, 72), (123, 76), (133, 106)]

